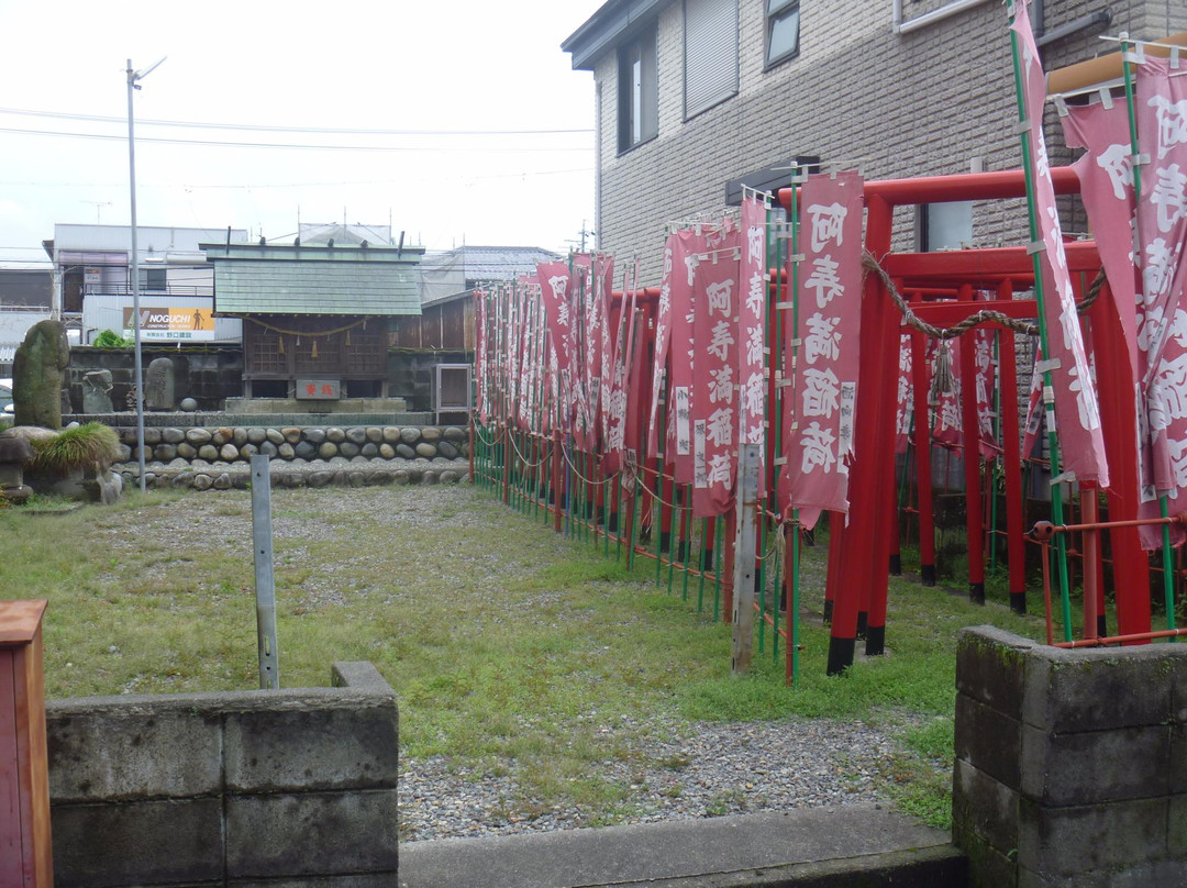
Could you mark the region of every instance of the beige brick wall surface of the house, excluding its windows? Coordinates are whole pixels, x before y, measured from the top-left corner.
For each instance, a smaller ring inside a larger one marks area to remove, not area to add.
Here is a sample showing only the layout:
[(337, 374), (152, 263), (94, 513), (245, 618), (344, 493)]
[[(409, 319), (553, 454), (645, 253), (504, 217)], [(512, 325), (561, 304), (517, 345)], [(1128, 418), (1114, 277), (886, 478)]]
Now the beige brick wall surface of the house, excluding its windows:
[[(904, 0), (915, 18), (941, 0)], [(1047, 0), (1047, 28), (1105, 6), (1100, 0)], [(1187, 28), (1182, 0), (1115, 0), (1107, 33), (1153, 39)], [(890, 0), (805, 0), (796, 58), (763, 71), (763, 0), (740, 0), (738, 95), (684, 120), (684, 11), (668, 4), (658, 21), (659, 135), (617, 152), (617, 62), (598, 61), (598, 246), (642, 260), (642, 280), (659, 283), (666, 222), (719, 209), (725, 183), (795, 154), (819, 154), (830, 169), (858, 167), (867, 178), (967, 172), (1020, 161), (1014, 74), (1005, 11), (997, 0), (920, 31), (896, 36)], [(1169, 23), (1169, 27), (1168, 27)], [(1099, 28), (1045, 50), (1048, 69), (1112, 51)], [(1048, 109), (1053, 160), (1058, 122)], [(1069, 205), (1075, 224), (1077, 208)], [(896, 216), (897, 243), (913, 243), (909, 210)], [(1021, 202), (978, 205), (975, 246), (1023, 240)], [(1083, 228), (1083, 217), (1079, 218)]]

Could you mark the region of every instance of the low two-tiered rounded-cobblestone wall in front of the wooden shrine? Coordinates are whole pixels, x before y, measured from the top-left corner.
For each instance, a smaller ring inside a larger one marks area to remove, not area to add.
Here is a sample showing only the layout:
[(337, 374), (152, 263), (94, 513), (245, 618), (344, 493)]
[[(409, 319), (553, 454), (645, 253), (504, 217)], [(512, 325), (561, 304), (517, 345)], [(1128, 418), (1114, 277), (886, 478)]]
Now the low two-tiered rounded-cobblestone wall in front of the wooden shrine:
[[(137, 430), (118, 431), (114, 469), (134, 484)], [(269, 458), (273, 487), (434, 484), (468, 477), (470, 444), (457, 426), (146, 427), (146, 486), (242, 489), (256, 453)]]

